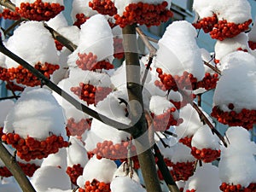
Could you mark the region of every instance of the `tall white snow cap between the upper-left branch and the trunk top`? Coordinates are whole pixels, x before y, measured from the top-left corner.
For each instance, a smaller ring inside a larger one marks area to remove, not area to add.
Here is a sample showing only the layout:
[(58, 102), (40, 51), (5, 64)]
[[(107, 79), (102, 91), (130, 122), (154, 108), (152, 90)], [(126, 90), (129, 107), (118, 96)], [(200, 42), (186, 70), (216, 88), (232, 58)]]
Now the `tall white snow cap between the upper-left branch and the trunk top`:
[(113, 34), (103, 15), (93, 15), (81, 25), (78, 48), (69, 55), (68, 65), (75, 67), (78, 53), (90, 52), (97, 56), (97, 61), (113, 60)]

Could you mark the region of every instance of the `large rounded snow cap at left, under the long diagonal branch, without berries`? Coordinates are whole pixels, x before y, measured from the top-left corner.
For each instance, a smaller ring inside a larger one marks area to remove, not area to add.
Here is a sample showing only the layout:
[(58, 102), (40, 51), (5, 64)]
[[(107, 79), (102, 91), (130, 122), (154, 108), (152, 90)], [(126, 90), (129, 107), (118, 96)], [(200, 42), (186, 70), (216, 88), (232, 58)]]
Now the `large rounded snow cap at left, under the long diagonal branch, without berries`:
[(67, 139), (61, 106), (44, 88), (26, 88), (5, 120), (4, 133), (15, 132), (20, 137), (44, 140), (50, 134)]

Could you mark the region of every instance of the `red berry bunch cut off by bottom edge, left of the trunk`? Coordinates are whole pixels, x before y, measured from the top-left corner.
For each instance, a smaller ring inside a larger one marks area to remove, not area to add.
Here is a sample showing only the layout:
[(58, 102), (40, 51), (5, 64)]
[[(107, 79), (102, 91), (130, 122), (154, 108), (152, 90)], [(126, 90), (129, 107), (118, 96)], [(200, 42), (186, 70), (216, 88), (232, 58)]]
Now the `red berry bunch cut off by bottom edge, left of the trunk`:
[(99, 182), (93, 179), (92, 182), (86, 181), (84, 189), (79, 188), (79, 192), (110, 192), (110, 183)]

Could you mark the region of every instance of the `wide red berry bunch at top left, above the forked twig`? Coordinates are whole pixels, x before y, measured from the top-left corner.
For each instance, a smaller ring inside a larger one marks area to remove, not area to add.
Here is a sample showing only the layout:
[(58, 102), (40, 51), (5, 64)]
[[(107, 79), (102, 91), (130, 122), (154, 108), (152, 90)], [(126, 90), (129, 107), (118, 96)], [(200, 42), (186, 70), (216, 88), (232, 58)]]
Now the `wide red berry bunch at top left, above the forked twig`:
[(15, 8), (21, 17), (38, 21), (48, 21), (61, 13), (62, 10), (64, 10), (64, 6), (60, 3), (43, 3), (42, 0), (36, 0), (34, 3), (20, 3), (20, 7)]

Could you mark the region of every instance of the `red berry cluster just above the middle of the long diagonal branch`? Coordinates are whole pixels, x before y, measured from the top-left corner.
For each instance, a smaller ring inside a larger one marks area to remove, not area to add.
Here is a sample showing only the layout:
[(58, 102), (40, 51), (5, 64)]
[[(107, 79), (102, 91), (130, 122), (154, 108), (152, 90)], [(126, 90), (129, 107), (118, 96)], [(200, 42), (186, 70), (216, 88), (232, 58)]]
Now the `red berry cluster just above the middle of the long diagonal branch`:
[(84, 83), (80, 83), (79, 87), (72, 87), (70, 90), (84, 102), (95, 105), (112, 91), (110, 87), (95, 87), (92, 84)]

